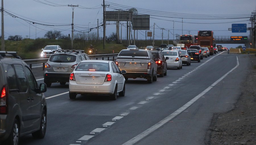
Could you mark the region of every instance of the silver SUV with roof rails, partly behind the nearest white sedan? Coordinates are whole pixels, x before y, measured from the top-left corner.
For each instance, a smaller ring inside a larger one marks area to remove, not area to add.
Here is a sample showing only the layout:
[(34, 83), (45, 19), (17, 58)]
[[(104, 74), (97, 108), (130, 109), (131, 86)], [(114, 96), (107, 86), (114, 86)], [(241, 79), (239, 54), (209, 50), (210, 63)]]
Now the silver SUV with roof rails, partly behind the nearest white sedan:
[(44, 83), (47, 87), (54, 82), (65, 85), (69, 82), (70, 74), (82, 60), (90, 60), (84, 50), (61, 50), (52, 54), (45, 64)]

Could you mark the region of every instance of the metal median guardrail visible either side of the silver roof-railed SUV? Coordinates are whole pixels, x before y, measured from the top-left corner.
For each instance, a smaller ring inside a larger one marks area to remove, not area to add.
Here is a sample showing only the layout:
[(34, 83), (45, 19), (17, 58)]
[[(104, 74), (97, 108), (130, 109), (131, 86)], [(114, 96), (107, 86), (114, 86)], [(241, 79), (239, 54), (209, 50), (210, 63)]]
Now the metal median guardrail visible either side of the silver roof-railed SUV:
[[(113, 60), (115, 59), (115, 56), (117, 56), (119, 53), (109, 53), (109, 54), (94, 54), (94, 55), (88, 55), (91, 59), (96, 58), (98, 60), (98, 58), (102, 58), (102, 60), (104, 60), (104, 58), (109, 58), (113, 57)], [(43, 70), (44, 70), (44, 65), (45, 63), (48, 61), (49, 58), (37, 58), (37, 59), (24, 59), (23, 61), (25, 61), (25, 63), (27, 63), (30, 67), (30, 69), (32, 69), (32, 64), (38, 64), (38, 63), (43, 63)]]

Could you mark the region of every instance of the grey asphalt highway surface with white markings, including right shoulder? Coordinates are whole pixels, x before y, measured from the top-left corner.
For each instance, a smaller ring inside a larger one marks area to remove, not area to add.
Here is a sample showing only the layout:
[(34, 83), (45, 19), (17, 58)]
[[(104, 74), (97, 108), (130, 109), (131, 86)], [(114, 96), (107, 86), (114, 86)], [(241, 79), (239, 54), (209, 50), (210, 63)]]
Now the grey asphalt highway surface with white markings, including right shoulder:
[[(247, 74), (246, 55), (227, 51), (191, 62), (148, 84), (129, 79), (124, 97), (77, 95), (69, 99), (68, 83), (53, 83), (44, 139), (20, 138), (20, 145), (156, 145), (205, 144), (214, 113), (234, 107)], [(38, 83), (42, 68), (33, 68)]]

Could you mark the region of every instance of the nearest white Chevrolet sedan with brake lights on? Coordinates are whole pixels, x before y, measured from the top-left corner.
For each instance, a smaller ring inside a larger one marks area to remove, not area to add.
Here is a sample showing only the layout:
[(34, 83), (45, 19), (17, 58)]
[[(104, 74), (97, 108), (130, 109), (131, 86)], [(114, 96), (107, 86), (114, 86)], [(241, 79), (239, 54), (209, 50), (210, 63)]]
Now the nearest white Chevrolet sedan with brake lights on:
[(81, 61), (69, 77), (69, 98), (77, 94), (108, 94), (112, 100), (125, 96), (125, 78), (113, 61)]

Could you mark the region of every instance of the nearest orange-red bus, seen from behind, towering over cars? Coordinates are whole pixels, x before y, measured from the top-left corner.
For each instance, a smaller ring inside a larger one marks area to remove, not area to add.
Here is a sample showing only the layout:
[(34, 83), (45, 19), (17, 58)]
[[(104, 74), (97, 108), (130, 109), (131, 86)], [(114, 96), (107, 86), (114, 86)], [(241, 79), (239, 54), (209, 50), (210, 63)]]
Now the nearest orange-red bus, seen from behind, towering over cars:
[(205, 30), (205, 31), (198, 31), (198, 36), (197, 36), (197, 43), (201, 47), (208, 47), (210, 51), (210, 55), (213, 55), (214, 53), (214, 37), (213, 37), (213, 32), (210, 30)]

